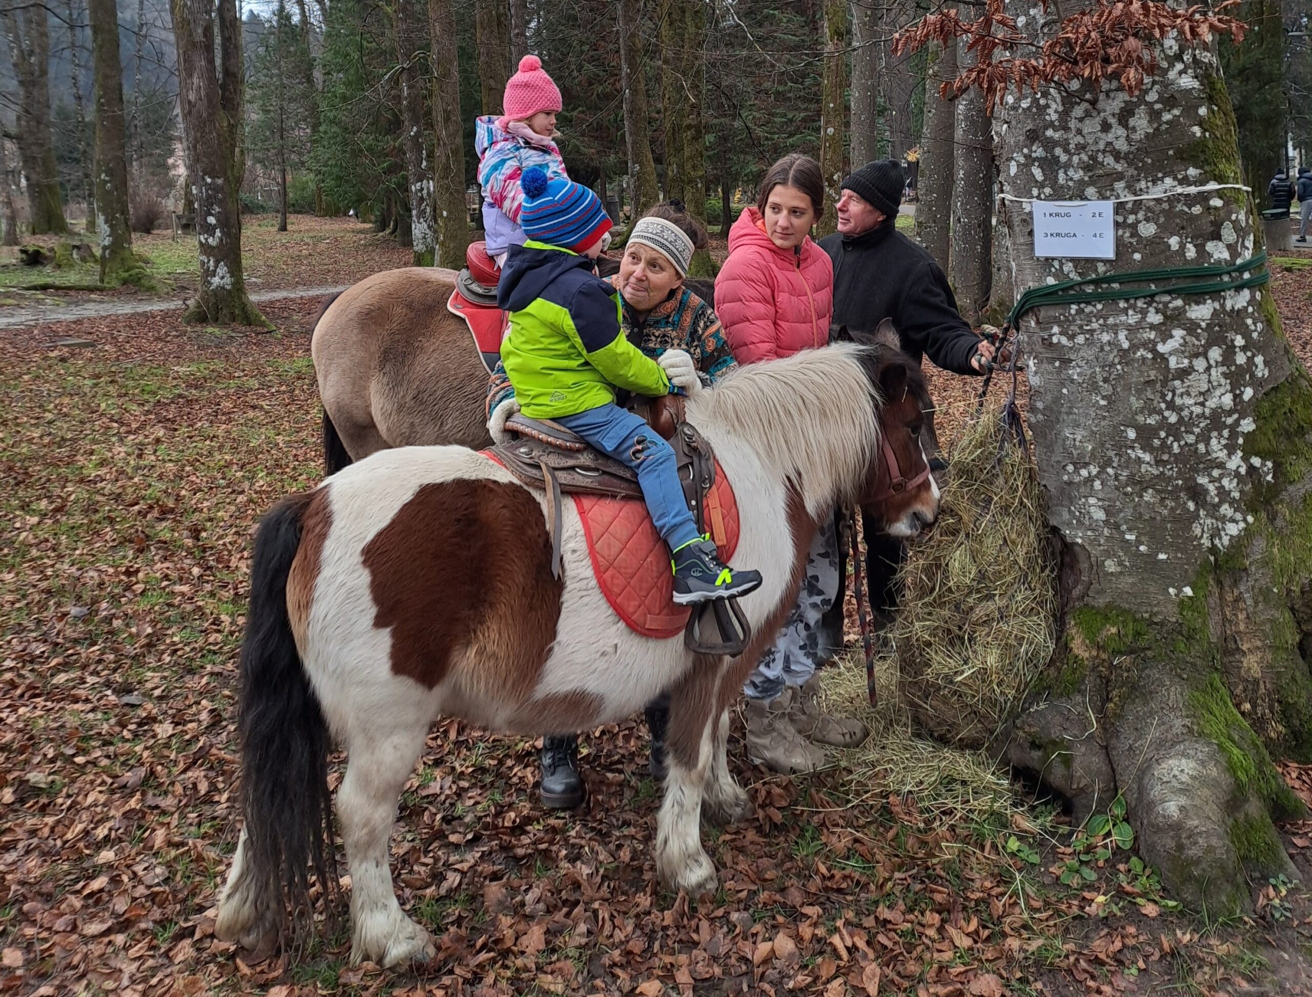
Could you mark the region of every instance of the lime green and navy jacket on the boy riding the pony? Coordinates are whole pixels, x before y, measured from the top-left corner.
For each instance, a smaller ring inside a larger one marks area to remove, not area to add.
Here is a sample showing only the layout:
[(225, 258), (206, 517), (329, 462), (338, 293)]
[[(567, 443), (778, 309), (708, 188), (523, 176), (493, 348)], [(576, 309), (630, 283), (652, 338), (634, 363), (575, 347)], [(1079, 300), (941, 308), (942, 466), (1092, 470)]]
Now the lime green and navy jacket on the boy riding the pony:
[(501, 362), (530, 418), (613, 403), (617, 387), (669, 394), (665, 371), (621, 331), (619, 293), (588, 257), (531, 239), (512, 245), (496, 296), (510, 312)]

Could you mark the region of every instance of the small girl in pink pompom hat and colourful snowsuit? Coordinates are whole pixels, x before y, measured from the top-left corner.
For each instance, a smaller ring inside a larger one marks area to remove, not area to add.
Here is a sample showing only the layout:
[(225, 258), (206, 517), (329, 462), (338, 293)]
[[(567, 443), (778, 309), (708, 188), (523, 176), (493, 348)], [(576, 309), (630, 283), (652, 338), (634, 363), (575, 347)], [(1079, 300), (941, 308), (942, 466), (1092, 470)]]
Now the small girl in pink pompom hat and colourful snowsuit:
[(479, 153), (483, 186), (483, 231), (487, 253), (497, 266), (512, 245), (527, 236), (520, 226), (523, 189), (520, 177), (529, 167), (542, 167), (548, 180), (568, 180), (565, 161), (552, 140), (560, 89), (537, 55), (520, 59), (520, 71), (505, 85), (505, 114), (485, 114), (474, 122), (474, 150)]

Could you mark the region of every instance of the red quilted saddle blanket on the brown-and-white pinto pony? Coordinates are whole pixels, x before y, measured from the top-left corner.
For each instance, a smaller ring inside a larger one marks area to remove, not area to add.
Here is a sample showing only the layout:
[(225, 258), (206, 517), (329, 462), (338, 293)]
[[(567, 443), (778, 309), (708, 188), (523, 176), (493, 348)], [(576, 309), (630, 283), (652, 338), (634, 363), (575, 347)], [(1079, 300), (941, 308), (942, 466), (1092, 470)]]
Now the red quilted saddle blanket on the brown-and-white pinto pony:
[[(656, 533), (640, 498), (575, 495), (588, 537), (588, 555), (606, 602), (630, 630), (646, 638), (673, 638), (691, 610), (674, 605), (669, 548)], [(715, 484), (706, 496), (706, 526), (720, 550), (733, 556), (739, 540), (737, 501), (724, 470), (715, 463)]]

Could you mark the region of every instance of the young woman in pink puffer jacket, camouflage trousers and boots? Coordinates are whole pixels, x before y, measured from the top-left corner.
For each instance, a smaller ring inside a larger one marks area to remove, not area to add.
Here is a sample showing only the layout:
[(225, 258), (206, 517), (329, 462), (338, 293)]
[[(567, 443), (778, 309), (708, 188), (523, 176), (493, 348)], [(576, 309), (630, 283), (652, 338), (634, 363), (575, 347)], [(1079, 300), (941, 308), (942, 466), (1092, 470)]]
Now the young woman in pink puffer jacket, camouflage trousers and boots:
[[(824, 210), (820, 164), (785, 156), (765, 174), (756, 207), (729, 230), (729, 258), (715, 278), (715, 311), (739, 363), (790, 357), (829, 342), (833, 264), (807, 235)], [(816, 665), (820, 621), (838, 592), (838, 537), (824, 517), (783, 628), (761, 655), (747, 697), (747, 753), (781, 773), (828, 763), (825, 745), (850, 748), (866, 737), (859, 720), (820, 707)]]

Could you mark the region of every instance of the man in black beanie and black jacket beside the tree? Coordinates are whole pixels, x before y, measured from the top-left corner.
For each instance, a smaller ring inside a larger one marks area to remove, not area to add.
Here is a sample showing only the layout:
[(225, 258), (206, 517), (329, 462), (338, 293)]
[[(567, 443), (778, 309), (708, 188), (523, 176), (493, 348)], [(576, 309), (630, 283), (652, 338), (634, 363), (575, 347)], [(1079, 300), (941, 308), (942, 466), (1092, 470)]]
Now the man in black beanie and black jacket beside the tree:
[[(993, 361), (993, 344), (956, 311), (947, 274), (934, 257), (896, 228), (905, 182), (896, 159), (867, 163), (842, 181), (838, 231), (820, 240), (833, 260), (833, 321), (853, 332), (874, 332), (890, 319), (903, 350), (916, 362), (929, 354), (954, 374), (984, 374)], [(937, 455), (930, 467), (943, 468)], [(866, 551), (870, 609), (876, 623), (887, 623), (897, 602), (893, 581), (904, 547), (867, 526)], [(845, 577), (841, 571), (840, 579)], [(841, 609), (841, 593), (834, 605)], [(825, 617), (827, 631), (840, 628), (841, 634), (841, 617)]]

